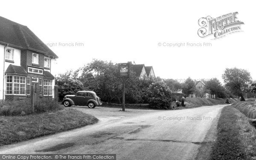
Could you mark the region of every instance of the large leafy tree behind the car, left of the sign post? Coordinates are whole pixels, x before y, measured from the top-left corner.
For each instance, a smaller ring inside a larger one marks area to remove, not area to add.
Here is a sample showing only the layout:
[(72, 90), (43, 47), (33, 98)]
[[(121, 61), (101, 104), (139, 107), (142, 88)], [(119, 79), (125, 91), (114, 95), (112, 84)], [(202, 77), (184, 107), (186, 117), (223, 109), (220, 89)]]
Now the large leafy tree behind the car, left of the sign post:
[(112, 62), (93, 59), (80, 70), (79, 79), (87, 90), (93, 90), (99, 97), (111, 103), (122, 92), (121, 79), (117, 78), (117, 66)]

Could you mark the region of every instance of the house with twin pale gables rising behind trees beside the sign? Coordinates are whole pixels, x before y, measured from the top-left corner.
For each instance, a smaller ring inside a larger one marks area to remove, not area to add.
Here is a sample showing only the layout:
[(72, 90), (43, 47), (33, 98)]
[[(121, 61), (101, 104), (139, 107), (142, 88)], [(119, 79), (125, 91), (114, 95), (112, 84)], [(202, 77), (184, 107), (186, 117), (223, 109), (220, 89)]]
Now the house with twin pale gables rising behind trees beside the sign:
[(140, 79), (156, 78), (152, 66), (145, 66), (144, 64), (130, 64), (130, 69), (135, 72)]

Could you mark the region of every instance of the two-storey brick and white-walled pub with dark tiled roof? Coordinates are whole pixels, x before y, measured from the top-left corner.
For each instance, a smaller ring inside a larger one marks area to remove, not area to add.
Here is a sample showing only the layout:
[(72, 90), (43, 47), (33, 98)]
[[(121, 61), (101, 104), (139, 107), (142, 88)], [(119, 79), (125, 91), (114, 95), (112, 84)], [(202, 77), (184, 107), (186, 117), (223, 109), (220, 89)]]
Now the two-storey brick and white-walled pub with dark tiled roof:
[(51, 74), (58, 56), (27, 26), (0, 17), (0, 99), (54, 98)]

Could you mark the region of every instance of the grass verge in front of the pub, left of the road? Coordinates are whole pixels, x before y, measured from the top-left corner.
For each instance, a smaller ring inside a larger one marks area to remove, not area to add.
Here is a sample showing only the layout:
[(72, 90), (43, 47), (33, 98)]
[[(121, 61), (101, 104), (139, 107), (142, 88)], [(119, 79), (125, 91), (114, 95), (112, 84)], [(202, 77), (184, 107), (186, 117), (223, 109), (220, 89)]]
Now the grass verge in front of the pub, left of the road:
[(0, 146), (91, 125), (99, 120), (68, 108), (26, 116), (0, 116)]

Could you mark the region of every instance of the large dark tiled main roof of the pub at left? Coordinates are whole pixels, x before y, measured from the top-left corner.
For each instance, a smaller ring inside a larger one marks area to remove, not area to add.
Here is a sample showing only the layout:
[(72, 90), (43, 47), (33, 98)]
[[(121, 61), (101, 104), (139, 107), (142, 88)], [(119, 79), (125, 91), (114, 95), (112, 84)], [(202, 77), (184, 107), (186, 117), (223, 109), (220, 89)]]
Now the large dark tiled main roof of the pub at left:
[[(27, 26), (0, 16), (0, 43), (10, 44), (21, 49), (41, 52), (53, 58), (58, 56), (52, 52)], [(41, 44), (41, 45), (39, 45)]]

